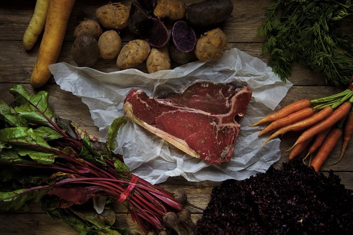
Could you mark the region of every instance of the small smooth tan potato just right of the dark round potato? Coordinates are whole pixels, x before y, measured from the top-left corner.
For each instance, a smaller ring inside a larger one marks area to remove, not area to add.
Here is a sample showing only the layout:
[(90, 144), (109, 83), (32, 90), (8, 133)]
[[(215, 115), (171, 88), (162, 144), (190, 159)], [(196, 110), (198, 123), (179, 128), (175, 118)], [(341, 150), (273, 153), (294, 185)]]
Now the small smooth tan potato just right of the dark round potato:
[(121, 38), (115, 30), (105, 31), (98, 39), (99, 56), (102, 59), (117, 58), (121, 47)]

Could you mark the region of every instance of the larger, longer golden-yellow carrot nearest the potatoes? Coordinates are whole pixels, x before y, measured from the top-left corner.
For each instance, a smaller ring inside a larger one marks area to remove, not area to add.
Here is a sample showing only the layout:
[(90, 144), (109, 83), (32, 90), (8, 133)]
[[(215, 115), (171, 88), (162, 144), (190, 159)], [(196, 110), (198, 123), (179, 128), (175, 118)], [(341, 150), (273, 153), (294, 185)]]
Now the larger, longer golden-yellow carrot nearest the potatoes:
[(39, 46), (37, 61), (34, 64), (30, 83), (41, 87), (51, 77), (48, 65), (56, 63), (75, 0), (51, 0), (46, 26)]

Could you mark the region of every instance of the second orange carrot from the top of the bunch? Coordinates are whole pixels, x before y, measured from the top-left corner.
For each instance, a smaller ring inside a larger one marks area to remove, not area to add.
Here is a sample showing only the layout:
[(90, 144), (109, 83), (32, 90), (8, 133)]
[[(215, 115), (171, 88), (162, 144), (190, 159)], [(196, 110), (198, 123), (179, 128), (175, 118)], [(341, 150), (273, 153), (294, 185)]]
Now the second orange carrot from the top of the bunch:
[(295, 123), (297, 121), (303, 120), (306, 117), (309, 117), (314, 114), (314, 109), (313, 108), (304, 108), (301, 109), (295, 113), (289, 114), (288, 116), (285, 116), (281, 119), (278, 119), (271, 124), (269, 124), (266, 128), (264, 128), (258, 136), (267, 134), (273, 130), (276, 130), (280, 127)]

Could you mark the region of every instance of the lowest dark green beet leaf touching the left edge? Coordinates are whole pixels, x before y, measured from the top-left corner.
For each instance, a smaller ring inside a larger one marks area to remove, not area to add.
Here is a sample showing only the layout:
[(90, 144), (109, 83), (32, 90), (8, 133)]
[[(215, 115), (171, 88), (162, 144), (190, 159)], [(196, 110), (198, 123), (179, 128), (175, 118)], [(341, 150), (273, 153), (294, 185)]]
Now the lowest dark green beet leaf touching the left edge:
[(50, 187), (38, 186), (30, 189), (0, 192), (0, 208), (3, 210), (20, 209), (29, 201), (39, 201), (49, 190)]

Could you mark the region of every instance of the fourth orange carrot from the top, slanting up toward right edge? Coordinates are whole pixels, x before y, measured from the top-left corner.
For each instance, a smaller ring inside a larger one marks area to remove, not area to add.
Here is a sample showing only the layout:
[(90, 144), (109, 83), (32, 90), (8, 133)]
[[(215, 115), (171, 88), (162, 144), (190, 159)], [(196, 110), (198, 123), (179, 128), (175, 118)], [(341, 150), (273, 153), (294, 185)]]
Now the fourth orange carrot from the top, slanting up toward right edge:
[[(333, 127), (338, 121), (340, 121), (347, 113), (349, 112), (352, 104), (350, 102), (344, 102), (334, 112), (329, 115), (326, 119), (318, 122), (314, 126), (310, 127), (306, 131), (304, 131), (293, 146), (306, 141), (307, 139), (317, 135), (323, 130), (326, 130), (330, 127)], [(328, 106), (327, 106), (328, 107)]]

